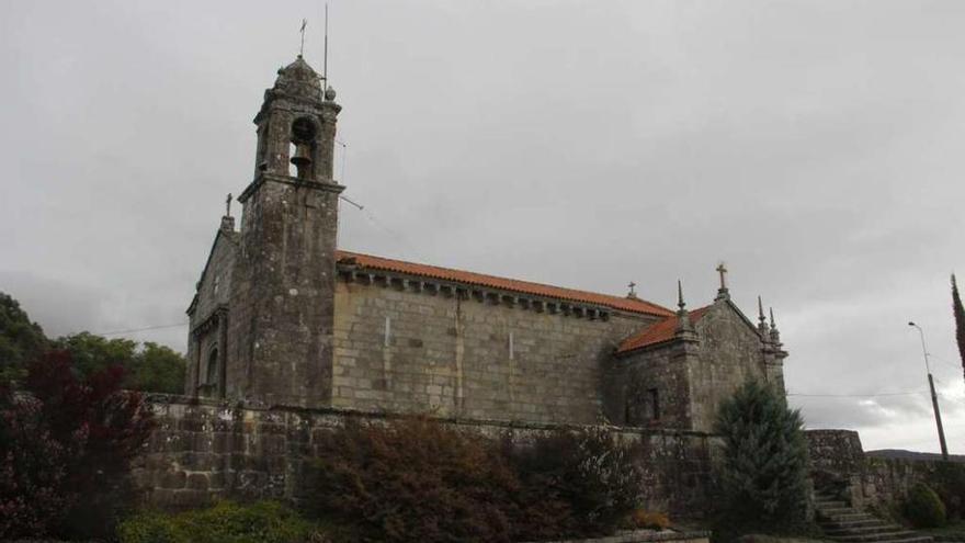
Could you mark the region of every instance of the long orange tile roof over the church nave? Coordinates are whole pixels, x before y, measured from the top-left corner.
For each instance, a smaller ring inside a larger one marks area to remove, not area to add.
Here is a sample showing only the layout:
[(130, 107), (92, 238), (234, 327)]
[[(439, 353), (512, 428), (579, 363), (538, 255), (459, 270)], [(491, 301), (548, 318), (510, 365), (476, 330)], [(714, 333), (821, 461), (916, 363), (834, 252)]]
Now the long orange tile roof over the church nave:
[(576, 291), (572, 289), (564, 289), (560, 286), (550, 286), (540, 283), (531, 283), (529, 281), (497, 278), (493, 275), (485, 275), (483, 273), (452, 270), (449, 268), (439, 268), (436, 265), (405, 262), (401, 260), (393, 260), (388, 258), (374, 257), (372, 254), (362, 254), (357, 252), (340, 250), (336, 252), (336, 258), (341, 264), (354, 263), (361, 268), (368, 268), (373, 270), (391, 271), (396, 273), (420, 275), (423, 278), (438, 279), (442, 281), (452, 281), (454, 283), (463, 283), (467, 285), (486, 286), (489, 289), (518, 292), (534, 296), (565, 299), (569, 302), (579, 302), (583, 304), (601, 305), (628, 313), (642, 313), (646, 315), (657, 315), (660, 317), (673, 315), (673, 312), (671, 312), (670, 309), (647, 302), (645, 299), (631, 299), (621, 296), (610, 296), (606, 294), (598, 294), (593, 292)]

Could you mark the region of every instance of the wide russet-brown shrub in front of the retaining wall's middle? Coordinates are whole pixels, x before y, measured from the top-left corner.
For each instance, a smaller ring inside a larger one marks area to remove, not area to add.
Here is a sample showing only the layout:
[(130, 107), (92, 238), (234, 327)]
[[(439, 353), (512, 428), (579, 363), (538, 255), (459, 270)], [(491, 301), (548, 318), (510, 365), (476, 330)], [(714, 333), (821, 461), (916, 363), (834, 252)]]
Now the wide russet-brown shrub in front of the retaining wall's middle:
[(349, 420), (319, 443), (310, 502), (367, 541), (511, 541), (519, 490), (496, 443), (412, 417)]

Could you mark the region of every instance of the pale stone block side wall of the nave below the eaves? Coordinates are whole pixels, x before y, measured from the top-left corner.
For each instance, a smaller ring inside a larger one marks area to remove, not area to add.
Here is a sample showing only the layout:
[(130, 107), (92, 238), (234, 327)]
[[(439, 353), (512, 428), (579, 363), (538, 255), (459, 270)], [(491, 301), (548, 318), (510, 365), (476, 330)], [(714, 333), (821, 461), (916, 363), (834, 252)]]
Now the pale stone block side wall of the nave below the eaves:
[(590, 319), (340, 280), (332, 406), (595, 423), (604, 364), (651, 319)]

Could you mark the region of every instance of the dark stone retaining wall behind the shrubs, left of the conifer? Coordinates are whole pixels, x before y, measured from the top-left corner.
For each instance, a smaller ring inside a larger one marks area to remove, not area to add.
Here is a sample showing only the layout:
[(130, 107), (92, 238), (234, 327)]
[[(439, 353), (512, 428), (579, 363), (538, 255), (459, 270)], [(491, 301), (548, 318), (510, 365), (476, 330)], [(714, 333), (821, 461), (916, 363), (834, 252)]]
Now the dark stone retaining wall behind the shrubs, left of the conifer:
[[(386, 416), (344, 409), (245, 408), (180, 396), (150, 398), (159, 426), (134, 464), (148, 505), (198, 507), (216, 498), (297, 499), (307, 483), (306, 456), (348, 417)], [(441, 419), (488, 435), (524, 440), (558, 428)], [(646, 504), (674, 518), (708, 510), (709, 465), (716, 441), (697, 432), (620, 429), (643, 445)]]

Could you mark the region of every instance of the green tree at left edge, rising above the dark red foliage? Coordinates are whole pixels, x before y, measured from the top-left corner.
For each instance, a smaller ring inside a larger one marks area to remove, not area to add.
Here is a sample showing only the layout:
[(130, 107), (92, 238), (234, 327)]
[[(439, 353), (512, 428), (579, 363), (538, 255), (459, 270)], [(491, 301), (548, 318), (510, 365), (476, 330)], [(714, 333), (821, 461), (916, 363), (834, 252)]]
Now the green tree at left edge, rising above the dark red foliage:
[(31, 321), (20, 303), (0, 292), (0, 378), (19, 381), (26, 375), (26, 363), (47, 348), (47, 337)]

